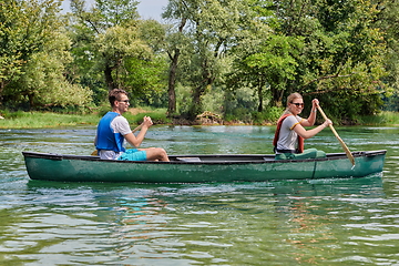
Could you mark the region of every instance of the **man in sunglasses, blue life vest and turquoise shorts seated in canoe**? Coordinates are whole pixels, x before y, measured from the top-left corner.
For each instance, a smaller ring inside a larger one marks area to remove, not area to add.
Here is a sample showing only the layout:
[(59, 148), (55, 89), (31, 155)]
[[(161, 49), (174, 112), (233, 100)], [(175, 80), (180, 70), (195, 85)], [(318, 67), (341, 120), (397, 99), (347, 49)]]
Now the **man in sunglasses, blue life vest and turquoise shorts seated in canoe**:
[[(127, 120), (122, 116), (130, 105), (127, 92), (113, 89), (109, 93), (109, 101), (112, 111), (100, 120), (94, 141), (99, 156), (106, 160), (168, 162), (166, 151), (162, 147), (137, 149), (153, 122), (145, 116), (137, 136), (133, 134)], [(124, 141), (135, 149), (125, 150)]]

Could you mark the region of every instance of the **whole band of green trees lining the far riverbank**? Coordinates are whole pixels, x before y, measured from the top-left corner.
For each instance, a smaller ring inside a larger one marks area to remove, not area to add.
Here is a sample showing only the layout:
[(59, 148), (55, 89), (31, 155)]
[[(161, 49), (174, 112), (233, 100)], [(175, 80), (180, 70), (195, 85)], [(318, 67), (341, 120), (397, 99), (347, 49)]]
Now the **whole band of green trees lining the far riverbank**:
[(0, 0), (2, 106), (102, 112), (123, 88), (132, 106), (192, 119), (264, 123), (291, 92), (336, 123), (397, 110), (398, 1), (170, 0), (167, 25), (134, 0), (71, 3), (66, 18), (57, 0)]

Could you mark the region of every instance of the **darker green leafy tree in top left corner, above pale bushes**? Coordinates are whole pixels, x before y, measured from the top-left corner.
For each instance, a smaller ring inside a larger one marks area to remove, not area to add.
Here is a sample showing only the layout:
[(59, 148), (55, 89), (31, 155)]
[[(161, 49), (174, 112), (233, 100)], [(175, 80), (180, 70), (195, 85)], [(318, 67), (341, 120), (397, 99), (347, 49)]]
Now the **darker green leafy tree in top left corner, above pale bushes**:
[(43, 49), (52, 31), (60, 29), (60, 3), (47, 1), (0, 1), (0, 100), (6, 86), (18, 80), (32, 54)]

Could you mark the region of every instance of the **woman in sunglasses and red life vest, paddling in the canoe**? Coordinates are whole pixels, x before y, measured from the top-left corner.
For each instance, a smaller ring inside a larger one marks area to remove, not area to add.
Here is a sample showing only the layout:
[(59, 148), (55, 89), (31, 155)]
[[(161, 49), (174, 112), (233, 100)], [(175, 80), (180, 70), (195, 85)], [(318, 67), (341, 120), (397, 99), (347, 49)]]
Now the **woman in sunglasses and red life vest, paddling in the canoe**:
[(277, 122), (277, 129), (273, 141), (276, 160), (301, 160), (325, 157), (326, 153), (316, 149), (304, 150), (304, 140), (313, 137), (329, 124), (326, 120), (319, 126), (305, 130), (304, 126), (313, 126), (316, 122), (317, 106), (319, 101), (311, 101), (311, 111), (308, 119), (303, 119), (298, 114), (304, 110), (304, 99), (299, 93), (293, 93), (287, 98), (287, 109)]

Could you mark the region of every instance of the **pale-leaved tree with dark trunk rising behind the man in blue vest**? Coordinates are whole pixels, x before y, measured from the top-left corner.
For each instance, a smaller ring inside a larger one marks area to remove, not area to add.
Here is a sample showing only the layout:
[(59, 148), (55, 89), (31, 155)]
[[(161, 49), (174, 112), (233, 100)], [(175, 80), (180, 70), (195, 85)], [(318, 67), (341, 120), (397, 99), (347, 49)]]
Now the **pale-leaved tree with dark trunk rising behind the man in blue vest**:
[(78, 18), (74, 40), (85, 40), (88, 50), (84, 52), (92, 54), (102, 69), (109, 90), (121, 86), (117, 83), (117, 71), (124, 57), (150, 51), (139, 39), (137, 3), (133, 0), (96, 0), (95, 6), (85, 11), (84, 0), (71, 1), (72, 12)]

